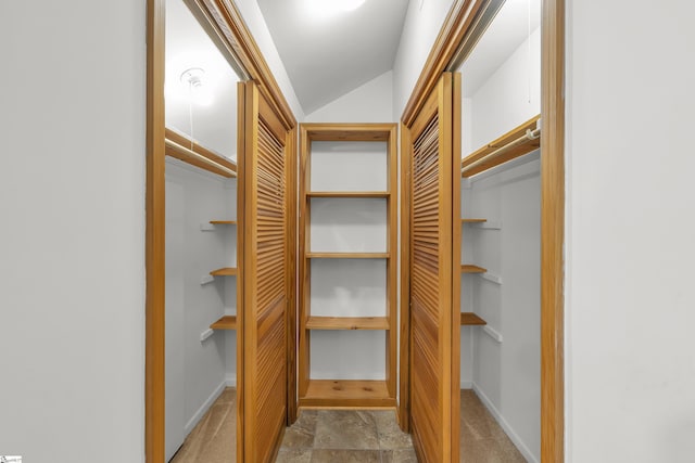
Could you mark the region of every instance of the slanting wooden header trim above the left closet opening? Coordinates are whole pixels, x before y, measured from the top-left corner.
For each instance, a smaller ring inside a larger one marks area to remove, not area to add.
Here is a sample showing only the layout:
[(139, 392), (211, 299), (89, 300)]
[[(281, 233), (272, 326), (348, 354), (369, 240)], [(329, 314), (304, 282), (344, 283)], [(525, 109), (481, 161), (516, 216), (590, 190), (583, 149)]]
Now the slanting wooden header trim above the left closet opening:
[(230, 0), (195, 0), (214, 23), (219, 37), (233, 50), (240, 64), (257, 86), (261, 94), (274, 106), (286, 127), (294, 128), (296, 119), (263, 53), (249, 31), (241, 13)]

